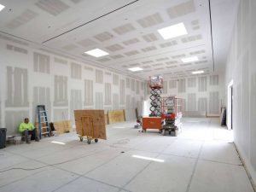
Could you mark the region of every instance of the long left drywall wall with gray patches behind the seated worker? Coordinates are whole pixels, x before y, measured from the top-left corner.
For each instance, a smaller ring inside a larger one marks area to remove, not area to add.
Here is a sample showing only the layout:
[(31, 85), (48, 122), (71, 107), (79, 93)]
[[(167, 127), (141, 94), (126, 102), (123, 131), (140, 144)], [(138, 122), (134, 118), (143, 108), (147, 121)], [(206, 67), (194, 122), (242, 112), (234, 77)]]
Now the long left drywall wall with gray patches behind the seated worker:
[[(44, 49), (16, 44), (10, 37), (0, 39), (0, 125), (7, 127), (8, 134), (16, 134), (25, 117), (34, 122), (38, 104), (46, 106), (51, 121), (73, 120), (73, 109), (125, 108), (126, 95), (131, 109), (131, 97), (136, 103), (143, 96), (143, 91), (137, 91), (143, 81), (133, 79), (131, 91), (131, 77)], [(129, 79), (127, 89), (125, 79)]]

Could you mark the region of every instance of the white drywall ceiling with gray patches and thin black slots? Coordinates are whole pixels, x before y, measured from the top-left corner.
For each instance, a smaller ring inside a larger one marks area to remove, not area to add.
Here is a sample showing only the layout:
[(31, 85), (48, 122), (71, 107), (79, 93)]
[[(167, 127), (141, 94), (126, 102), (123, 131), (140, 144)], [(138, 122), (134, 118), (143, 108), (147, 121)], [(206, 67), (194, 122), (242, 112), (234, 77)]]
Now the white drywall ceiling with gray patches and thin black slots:
[[(220, 73), (239, 0), (0, 0), (0, 31), (84, 63), (148, 79), (184, 78), (191, 71)], [(158, 29), (183, 22), (188, 35), (164, 40)], [(213, 41), (212, 41), (213, 40)], [(212, 60), (212, 42), (213, 58)], [(85, 55), (90, 49), (110, 55)], [(181, 58), (198, 56), (183, 63)], [(128, 67), (142, 67), (131, 73)]]

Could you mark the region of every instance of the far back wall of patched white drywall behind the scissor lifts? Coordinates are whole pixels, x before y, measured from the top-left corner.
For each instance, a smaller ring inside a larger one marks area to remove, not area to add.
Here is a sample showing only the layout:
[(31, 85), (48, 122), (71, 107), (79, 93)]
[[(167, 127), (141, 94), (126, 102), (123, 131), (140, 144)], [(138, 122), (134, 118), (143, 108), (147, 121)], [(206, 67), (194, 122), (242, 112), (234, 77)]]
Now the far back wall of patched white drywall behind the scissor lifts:
[[(212, 79), (212, 85), (207, 79)], [(221, 96), (223, 87), (218, 83), (218, 75), (199, 76), (188, 79), (166, 79), (165, 82), (169, 82), (167, 94), (164, 91), (162, 96), (177, 96), (183, 100), (183, 112), (195, 111), (211, 113), (213, 116), (219, 115), (219, 108), (221, 102)], [(148, 84), (145, 84), (145, 90), (148, 89)], [(201, 86), (201, 87), (200, 87)], [(203, 90), (203, 91), (199, 91)], [(210, 94), (214, 92), (214, 94)], [(149, 97), (149, 93), (144, 91), (146, 98)], [(210, 96), (211, 95), (211, 96)], [(211, 99), (210, 99), (211, 97)]]

